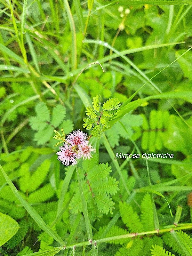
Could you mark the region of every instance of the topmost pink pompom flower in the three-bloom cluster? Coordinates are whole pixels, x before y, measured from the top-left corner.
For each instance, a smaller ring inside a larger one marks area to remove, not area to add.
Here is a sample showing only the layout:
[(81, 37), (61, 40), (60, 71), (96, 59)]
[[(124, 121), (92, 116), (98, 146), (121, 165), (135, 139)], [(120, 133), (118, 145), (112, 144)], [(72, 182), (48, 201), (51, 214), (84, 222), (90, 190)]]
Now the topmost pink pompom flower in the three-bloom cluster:
[(75, 132), (71, 132), (67, 138), (66, 141), (70, 143), (72, 146), (77, 145), (77, 146), (85, 146), (88, 144), (87, 139), (87, 134), (80, 131), (76, 130)]

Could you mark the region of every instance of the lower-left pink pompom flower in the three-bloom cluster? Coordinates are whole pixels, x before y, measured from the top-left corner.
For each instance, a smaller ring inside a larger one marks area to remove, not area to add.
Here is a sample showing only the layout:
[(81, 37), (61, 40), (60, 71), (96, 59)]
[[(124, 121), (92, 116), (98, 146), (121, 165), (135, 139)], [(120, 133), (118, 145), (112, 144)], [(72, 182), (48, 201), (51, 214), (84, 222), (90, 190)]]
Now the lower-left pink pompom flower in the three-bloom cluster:
[(80, 154), (74, 150), (74, 148), (68, 144), (63, 144), (62, 147), (59, 147), (61, 151), (57, 152), (58, 159), (64, 164), (75, 165), (77, 163), (75, 158), (81, 158)]

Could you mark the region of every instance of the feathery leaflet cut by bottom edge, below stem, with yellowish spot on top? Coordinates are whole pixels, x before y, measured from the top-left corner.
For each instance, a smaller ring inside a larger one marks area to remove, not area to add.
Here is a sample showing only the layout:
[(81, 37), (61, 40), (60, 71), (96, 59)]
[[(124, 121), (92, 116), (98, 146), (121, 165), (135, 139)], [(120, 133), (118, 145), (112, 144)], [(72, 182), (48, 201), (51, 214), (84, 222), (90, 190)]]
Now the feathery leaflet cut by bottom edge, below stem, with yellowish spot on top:
[(132, 240), (131, 246), (127, 244), (127, 247), (121, 247), (115, 254), (115, 256), (128, 256), (134, 255), (139, 256), (141, 254), (141, 250), (143, 248), (143, 241), (139, 238)]

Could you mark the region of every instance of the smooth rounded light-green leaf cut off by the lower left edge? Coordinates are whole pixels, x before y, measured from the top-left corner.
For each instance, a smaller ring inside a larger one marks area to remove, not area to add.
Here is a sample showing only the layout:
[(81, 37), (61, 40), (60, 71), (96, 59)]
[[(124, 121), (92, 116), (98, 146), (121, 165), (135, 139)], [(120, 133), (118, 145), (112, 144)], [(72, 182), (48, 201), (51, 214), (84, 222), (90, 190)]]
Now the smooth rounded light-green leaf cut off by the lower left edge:
[(5, 244), (19, 230), (19, 224), (10, 216), (0, 212), (0, 246)]

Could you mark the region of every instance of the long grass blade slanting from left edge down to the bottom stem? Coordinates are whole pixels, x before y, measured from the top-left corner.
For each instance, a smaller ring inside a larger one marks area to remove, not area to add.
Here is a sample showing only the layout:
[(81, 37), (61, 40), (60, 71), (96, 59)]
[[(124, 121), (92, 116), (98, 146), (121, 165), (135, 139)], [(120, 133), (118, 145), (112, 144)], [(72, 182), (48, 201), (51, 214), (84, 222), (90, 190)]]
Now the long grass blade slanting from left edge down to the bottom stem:
[(2, 168), (1, 164), (0, 164), (0, 169), (1, 172), (4, 175), (5, 180), (7, 181), (8, 185), (10, 186), (13, 194), (17, 197), (17, 199), (20, 201), (20, 203), (24, 206), (24, 208), (27, 210), (27, 212), (31, 215), (31, 217), (35, 220), (35, 222), (37, 223), (37, 225), (42, 228), (47, 234), (49, 234), (50, 236), (52, 236), (58, 243), (65, 245), (64, 241), (61, 239), (61, 237), (55, 233), (50, 227), (48, 227), (44, 220), (39, 216), (39, 214), (33, 209), (33, 207), (25, 200), (23, 199), (23, 197), (20, 195), (20, 193), (18, 192), (17, 188), (15, 188), (14, 184), (12, 183), (12, 181), (9, 179), (9, 177), (7, 176), (6, 172), (4, 171), (4, 169)]

